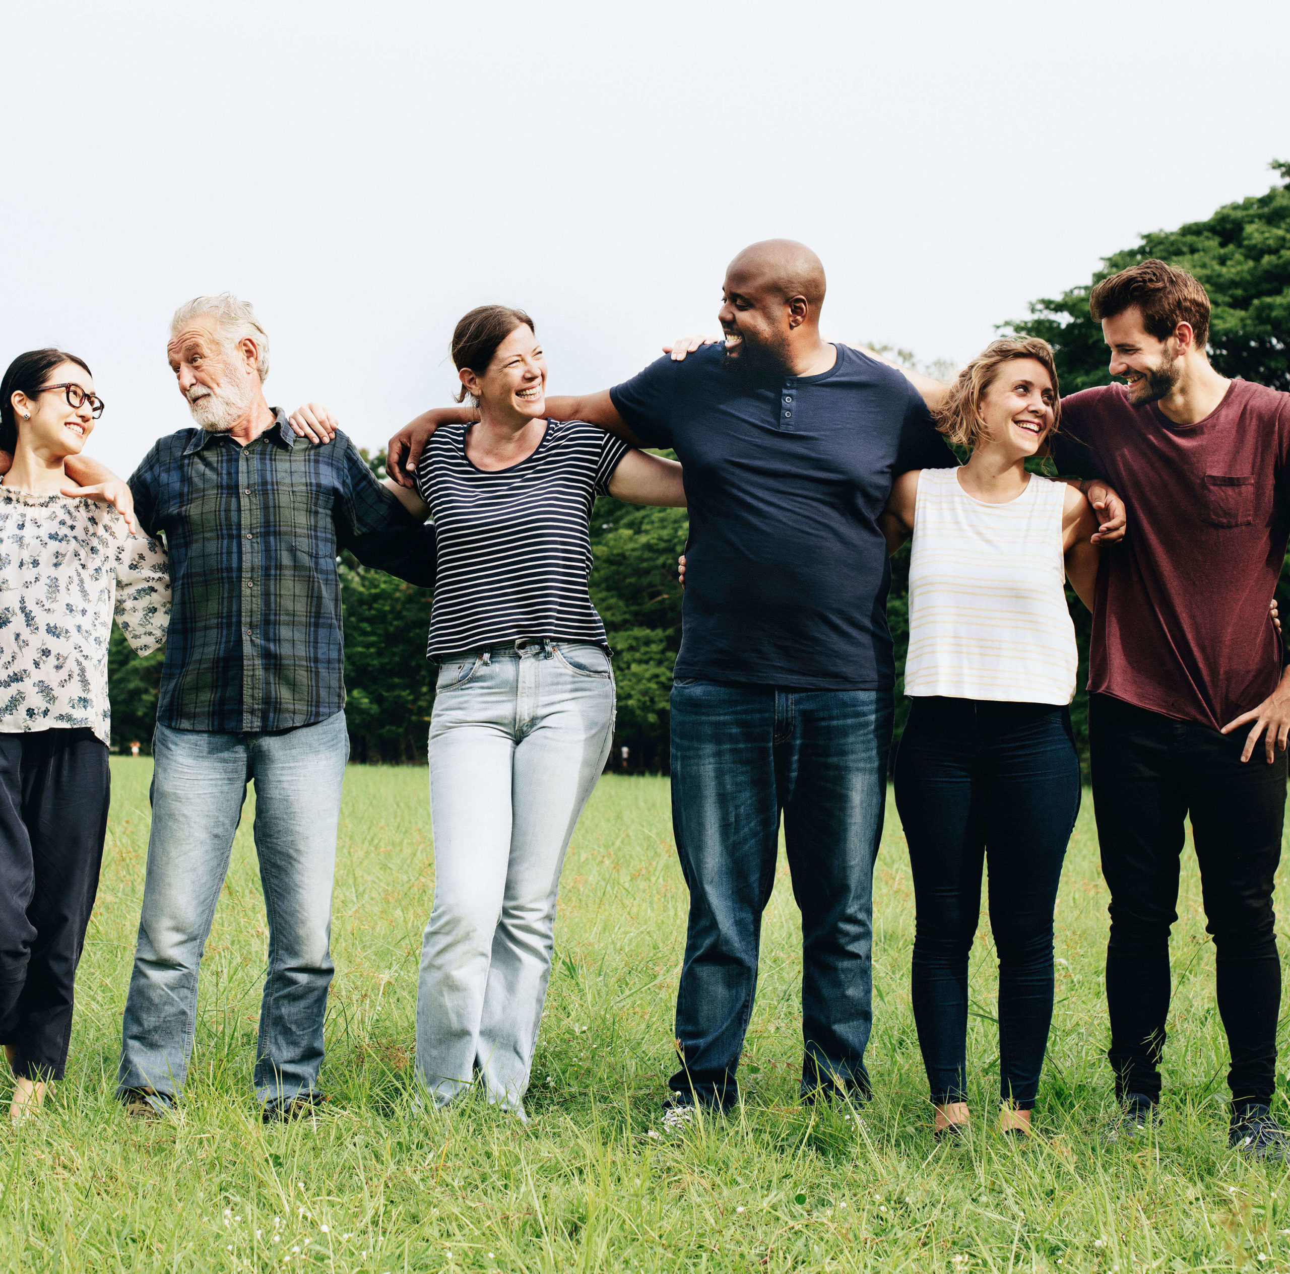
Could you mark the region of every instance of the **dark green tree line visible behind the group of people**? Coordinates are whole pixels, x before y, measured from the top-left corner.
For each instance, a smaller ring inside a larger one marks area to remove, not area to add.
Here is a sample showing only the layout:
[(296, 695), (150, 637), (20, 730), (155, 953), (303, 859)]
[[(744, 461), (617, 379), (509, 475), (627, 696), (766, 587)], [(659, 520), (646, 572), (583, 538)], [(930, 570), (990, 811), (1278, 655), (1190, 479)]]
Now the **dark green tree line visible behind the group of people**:
[[(1099, 279), (1158, 257), (1195, 275), (1214, 311), (1210, 356), (1227, 377), (1244, 377), (1290, 391), (1290, 162), (1273, 162), (1280, 178), (1265, 195), (1227, 204), (1202, 222), (1143, 235), (1133, 248), (1107, 257), (1086, 284), (1041, 298), (1002, 333), (1042, 337), (1057, 351), (1062, 391), (1108, 384), (1102, 329), (1089, 317), (1089, 291)], [(938, 370), (942, 370), (938, 368)], [(368, 463), (384, 476), (383, 456)], [(681, 589), (676, 560), (685, 549), (684, 509), (640, 508), (609, 496), (596, 502), (591, 545), (596, 565), (591, 596), (614, 650), (618, 723), (611, 769), (666, 771), (668, 690), (681, 645)], [(904, 722), (902, 674), (909, 636), (908, 547), (891, 560), (888, 622), (897, 647), (897, 727)], [(419, 762), (433, 704), (426, 663), (431, 593), (342, 558), (344, 602), (346, 717), (355, 761)], [(1081, 756), (1087, 750), (1089, 615), (1068, 592), (1080, 647), (1080, 690), (1072, 721)], [(1290, 573), (1277, 588), (1290, 614)], [(138, 659), (114, 628), (108, 656), (112, 741), (148, 749), (156, 714), (163, 652)], [(626, 762), (622, 749), (627, 748)]]

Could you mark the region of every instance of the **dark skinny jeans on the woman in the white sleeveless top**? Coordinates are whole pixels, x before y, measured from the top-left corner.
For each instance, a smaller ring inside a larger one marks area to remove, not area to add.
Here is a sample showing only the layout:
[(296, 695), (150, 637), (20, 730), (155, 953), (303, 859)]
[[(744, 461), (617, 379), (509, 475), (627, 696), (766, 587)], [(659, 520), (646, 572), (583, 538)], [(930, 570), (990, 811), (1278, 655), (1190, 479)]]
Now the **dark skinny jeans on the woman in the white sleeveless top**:
[(913, 869), (913, 1019), (931, 1100), (966, 1100), (968, 956), (988, 861), (1000, 1092), (1029, 1110), (1053, 1020), (1053, 906), (1080, 812), (1069, 709), (915, 699), (895, 803)]

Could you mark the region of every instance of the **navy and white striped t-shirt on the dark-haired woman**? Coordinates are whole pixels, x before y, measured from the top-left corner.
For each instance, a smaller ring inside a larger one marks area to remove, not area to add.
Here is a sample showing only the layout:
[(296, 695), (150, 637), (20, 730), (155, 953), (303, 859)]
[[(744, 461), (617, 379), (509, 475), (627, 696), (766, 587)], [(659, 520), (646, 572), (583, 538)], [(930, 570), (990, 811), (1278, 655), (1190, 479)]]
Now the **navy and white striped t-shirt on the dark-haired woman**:
[(582, 420), (548, 420), (528, 459), (476, 468), (466, 426), (435, 432), (417, 468), (439, 551), (431, 659), (520, 637), (604, 643), (591, 605), (591, 508), (630, 447)]

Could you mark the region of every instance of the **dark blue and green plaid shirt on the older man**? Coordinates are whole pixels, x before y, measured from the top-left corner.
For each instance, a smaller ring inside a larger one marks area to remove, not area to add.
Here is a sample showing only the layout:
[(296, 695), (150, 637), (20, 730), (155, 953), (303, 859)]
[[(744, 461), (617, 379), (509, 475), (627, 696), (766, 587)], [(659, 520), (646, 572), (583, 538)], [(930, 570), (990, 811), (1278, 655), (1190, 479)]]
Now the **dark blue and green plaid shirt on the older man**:
[(433, 531), (375, 480), (343, 435), (315, 446), (285, 413), (250, 445), (190, 428), (130, 478), (148, 535), (165, 536), (172, 611), (157, 721), (262, 734), (344, 707), (337, 554), (433, 584)]

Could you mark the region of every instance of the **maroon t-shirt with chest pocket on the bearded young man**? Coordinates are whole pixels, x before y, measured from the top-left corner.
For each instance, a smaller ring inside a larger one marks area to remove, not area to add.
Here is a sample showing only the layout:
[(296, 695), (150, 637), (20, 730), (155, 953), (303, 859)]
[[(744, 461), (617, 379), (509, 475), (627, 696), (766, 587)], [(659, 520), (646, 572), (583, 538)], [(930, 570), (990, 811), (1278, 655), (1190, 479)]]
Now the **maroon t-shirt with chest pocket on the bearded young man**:
[(1197, 424), (1122, 386), (1062, 400), (1058, 472), (1102, 477), (1129, 529), (1102, 552), (1089, 690), (1215, 729), (1276, 689), (1268, 619), (1290, 534), (1290, 393), (1233, 380)]

